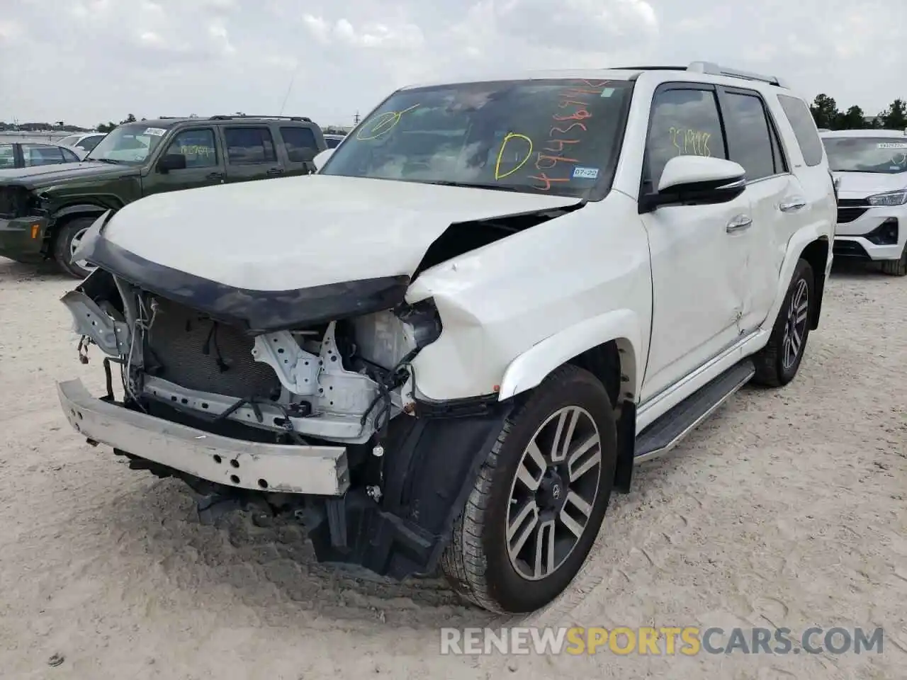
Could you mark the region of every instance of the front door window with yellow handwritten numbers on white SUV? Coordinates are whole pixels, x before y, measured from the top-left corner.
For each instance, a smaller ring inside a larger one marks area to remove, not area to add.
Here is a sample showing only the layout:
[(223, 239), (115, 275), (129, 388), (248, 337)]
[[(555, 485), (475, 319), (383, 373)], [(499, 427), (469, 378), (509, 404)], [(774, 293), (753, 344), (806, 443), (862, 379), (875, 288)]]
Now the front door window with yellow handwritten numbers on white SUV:
[(646, 142), (645, 178), (651, 188), (658, 186), (668, 160), (681, 155), (727, 159), (715, 92), (677, 88), (655, 93)]

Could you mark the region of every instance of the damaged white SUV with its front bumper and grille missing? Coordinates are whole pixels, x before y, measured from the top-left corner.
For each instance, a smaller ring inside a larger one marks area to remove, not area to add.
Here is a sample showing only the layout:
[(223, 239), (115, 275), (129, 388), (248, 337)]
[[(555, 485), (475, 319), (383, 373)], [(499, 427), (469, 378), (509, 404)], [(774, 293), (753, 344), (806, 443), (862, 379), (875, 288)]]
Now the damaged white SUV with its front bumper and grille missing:
[(63, 303), (108, 393), (58, 389), (203, 520), (290, 513), (319, 560), (543, 607), (634, 463), (788, 383), (819, 321), (833, 182), (773, 78), (407, 87), (318, 162), (98, 219)]

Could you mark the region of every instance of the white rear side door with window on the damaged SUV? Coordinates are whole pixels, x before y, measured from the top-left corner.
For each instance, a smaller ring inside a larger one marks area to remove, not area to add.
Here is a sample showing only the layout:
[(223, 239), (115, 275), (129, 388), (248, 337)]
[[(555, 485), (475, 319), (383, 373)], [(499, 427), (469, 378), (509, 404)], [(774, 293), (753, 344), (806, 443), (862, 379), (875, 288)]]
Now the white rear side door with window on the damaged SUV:
[(746, 248), (740, 330), (748, 333), (762, 325), (775, 302), (785, 246), (800, 226), (798, 212), (805, 209), (805, 199), (762, 95), (746, 88), (720, 87), (718, 100), (728, 156), (746, 170), (746, 197), (751, 203), (752, 224), (739, 236)]

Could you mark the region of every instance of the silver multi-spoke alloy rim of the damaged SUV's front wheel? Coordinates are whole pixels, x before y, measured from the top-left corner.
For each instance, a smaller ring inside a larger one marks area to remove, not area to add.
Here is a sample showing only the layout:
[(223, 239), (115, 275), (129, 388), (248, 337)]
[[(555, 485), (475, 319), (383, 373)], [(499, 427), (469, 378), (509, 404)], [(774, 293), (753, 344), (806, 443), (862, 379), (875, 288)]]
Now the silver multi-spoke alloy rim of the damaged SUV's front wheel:
[(522, 453), (507, 509), (507, 553), (527, 580), (551, 576), (585, 535), (598, 498), (601, 442), (579, 406), (552, 413)]

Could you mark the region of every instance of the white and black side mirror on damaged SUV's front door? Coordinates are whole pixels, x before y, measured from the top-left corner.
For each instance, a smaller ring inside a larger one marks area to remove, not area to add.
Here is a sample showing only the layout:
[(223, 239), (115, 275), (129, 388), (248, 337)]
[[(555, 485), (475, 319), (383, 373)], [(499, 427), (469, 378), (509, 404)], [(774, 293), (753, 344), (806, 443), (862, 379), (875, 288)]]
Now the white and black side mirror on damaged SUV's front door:
[(658, 191), (643, 197), (644, 212), (661, 206), (727, 203), (746, 190), (746, 170), (733, 160), (675, 156), (665, 164)]

